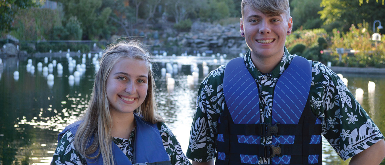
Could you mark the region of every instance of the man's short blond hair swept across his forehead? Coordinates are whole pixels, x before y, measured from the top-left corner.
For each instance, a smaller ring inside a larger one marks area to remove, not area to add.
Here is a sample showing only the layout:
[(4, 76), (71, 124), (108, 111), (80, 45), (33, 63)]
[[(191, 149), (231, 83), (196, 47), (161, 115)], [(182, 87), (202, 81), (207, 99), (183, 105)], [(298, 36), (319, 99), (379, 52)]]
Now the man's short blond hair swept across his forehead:
[(243, 10), (246, 6), (254, 10), (259, 10), (269, 16), (276, 16), (284, 13), (288, 19), (290, 17), (289, 0), (242, 0), (242, 17)]

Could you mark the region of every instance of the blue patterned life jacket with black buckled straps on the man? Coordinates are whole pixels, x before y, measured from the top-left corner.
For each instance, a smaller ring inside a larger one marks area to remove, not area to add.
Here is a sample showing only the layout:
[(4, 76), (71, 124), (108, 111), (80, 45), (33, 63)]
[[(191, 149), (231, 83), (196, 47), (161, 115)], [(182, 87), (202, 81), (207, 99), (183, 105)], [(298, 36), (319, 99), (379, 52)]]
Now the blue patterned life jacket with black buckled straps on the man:
[[(260, 157), (273, 165), (321, 165), (321, 120), (308, 100), (311, 61), (295, 56), (274, 89), (272, 123), (261, 123), (258, 85), (243, 57), (225, 68), (223, 91), (228, 107), (219, 117), (216, 165), (258, 164)], [(261, 145), (261, 136), (272, 144)]]

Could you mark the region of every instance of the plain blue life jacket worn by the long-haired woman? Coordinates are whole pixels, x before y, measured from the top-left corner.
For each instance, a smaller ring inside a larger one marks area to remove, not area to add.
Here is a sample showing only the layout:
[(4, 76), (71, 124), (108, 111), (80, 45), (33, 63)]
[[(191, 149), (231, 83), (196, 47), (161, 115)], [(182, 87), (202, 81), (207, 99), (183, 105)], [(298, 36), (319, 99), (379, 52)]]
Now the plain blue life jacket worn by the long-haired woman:
[[(134, 160), (130, 162), (128, 157), (122, 152), (122, 150), (112, 142), (112, 153), (114, 157), (115, 165), (171, 165), (169, 156), (164, 149), (163, 142), (159, 130), (156, 124), (149, 123), (141, 119), (134, 113), (136, 122), (136, 133), (134, 143)], [(65, 129), (59, 133), (58, 141), (62, 138), (65, 131), (70, 130), (74, 135), (77, 128), (82, 121), (77, 121), (65, 127)], [(94, 136), (90, 138), (89, 146), (94, 141)], [(103, 143), (100, 141), (100, 143)], [(94, 157), (98, 154), (99, 148), (90, 157)], [(87, 163), (91, 165), (103, 165), (103, 158), (100, 154), (95, 159), (87, 159)]]

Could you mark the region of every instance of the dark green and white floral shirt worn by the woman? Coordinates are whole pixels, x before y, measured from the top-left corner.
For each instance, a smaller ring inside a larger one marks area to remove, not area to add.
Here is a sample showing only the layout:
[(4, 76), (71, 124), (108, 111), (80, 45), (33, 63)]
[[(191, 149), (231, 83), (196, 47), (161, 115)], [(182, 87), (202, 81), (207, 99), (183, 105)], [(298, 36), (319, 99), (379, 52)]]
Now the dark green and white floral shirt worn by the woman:
[[(171, 130), (160, 122), (157, 124), (159, 133), (162, 137), (164, 149), (169, 155), (172, 165), (191, 165), (187, 157), (182, 152), (181, 145), (176, 140)], [(114, 143), (122, 150), (122, 152), (131, 161), (133, 160), (134, 141), (136, 128), (131, 131), (129, 139), (112, 138)], [(82, 157), (74, 148), (75, 135), (70, 130), (67, 130), (62, 139), (58, 142), (51, 165), (86, 165), (85, 157)]]

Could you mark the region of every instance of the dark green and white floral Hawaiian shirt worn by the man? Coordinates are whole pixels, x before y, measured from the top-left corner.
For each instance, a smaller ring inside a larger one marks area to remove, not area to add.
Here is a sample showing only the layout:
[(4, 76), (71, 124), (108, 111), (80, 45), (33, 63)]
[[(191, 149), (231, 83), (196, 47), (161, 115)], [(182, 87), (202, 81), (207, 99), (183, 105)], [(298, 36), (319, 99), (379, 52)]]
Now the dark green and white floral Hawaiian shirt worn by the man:
[[(246, 67), (258, 84), (261, 123), (271, 123), (275, 84), (293, 57), (285, 48), (278, 66), (271, 73), (263, 74), (251, 61), (250, 51), (244, 56)], [(215, 157), (218, 118), (227, 108), (223, 93), (224, 69), (225, 66), (220, 66), (211, 71), (198, 91), (186, 154), (196, 162), (208, 162)], [(343, 160), (384, 138), (335, 72), (320, 62), (313, 62), (311, 72), (311, 111), (322, 121), (322, 135)], [(261, 137), (261, 144), (271, 144), (271, 136)], [(270, 164), (271, 160), (261, 157), (258, 163)]]

